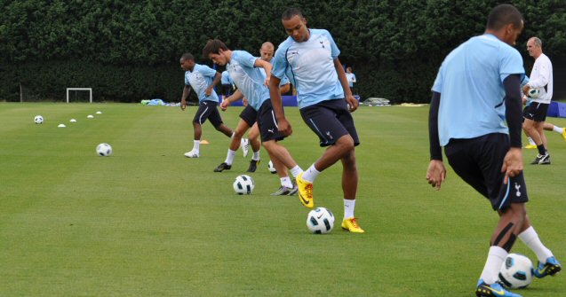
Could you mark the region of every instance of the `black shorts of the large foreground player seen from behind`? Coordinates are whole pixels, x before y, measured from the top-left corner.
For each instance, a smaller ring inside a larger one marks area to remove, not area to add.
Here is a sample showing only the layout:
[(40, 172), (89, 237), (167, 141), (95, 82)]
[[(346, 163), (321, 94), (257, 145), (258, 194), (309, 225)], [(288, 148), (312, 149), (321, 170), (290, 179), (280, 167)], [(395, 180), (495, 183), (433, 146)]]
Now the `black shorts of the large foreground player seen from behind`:
[(508, 135), (493, 133), (471, 139), (451, 139), (444, 153), (456, 174), (490, 199), (494, 210), (501, 210), (511, 203), (529, 201), (522, 173), (503, 184), (505, 173), (501, 173), (501, 167), (509, 147)]

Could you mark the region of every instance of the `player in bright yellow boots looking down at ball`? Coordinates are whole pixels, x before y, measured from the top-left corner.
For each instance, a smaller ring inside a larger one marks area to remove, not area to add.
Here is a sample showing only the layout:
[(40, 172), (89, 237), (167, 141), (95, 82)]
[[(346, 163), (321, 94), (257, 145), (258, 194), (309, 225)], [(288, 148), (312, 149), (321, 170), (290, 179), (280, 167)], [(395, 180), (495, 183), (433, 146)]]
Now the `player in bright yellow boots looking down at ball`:
[[(286, 74), (297, 89), (299, 111), (307, 126), (328, 148), (303, 174), (297, 176), (299, 199), (305, 207), (314, 207), (313, 183), (324, 169), (342, 162), (344, 220), (342, 228), (363, 233), (354, 216), (358, 171), (355, 146), (360, 144), (350, 112), (358, 102), (348, 87), (339, 49), (331, 34), (324, 29), (307, 28), (307, 20), (296, 8), (282, 16), (289, 37), (275, 51), (273, 74), (269, 82), (273, 109), (283, 135), (291, 135), (291, 124), (283, 113), (279, 82)], [(349, 110), (348, 110), (349, 105)]]

